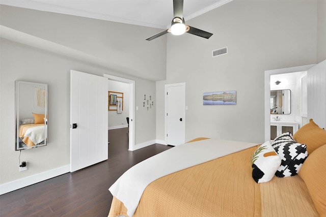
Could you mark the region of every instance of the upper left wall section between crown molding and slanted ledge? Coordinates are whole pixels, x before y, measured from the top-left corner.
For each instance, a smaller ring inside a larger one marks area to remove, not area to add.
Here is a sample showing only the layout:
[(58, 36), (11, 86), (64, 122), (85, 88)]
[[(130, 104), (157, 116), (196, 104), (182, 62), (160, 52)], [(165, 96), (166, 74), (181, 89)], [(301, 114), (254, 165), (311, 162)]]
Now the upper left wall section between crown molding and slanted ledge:
[(158, 29), (5, 5), (0, 16), (1, 25), (87, 53), (115, 72), (166, 78), (166, 36), (145, 40)]

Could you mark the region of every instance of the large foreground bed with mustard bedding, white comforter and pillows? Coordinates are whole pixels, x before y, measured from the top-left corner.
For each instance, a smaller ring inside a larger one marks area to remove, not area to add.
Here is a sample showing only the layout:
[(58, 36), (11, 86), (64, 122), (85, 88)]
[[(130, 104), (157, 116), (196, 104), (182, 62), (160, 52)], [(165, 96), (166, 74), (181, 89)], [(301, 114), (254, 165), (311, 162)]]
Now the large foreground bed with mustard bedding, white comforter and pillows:
[(198, 138), (182, 146), (207, 143), (243, 149), (149, 180), (144, 190), (139, 183), (155, 169), (145, 166), (148, 175), (134, 173), (121, 181), (128, 170), (109, 189), (114, 198), (108, 216), (326, 216), (326, 132), (312, 119), (293, 136), (285, 133), (271, 143)]

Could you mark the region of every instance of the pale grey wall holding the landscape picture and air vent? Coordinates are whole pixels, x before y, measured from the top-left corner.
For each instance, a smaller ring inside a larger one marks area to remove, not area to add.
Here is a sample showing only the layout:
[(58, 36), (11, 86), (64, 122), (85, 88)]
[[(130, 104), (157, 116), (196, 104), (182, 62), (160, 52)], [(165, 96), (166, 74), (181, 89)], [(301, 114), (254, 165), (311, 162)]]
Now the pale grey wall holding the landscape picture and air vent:
[[(214, 35), (168, 36), (167, 79), (156, 82), (157, 139), (165, 136), (164, 85), (185, 82), (186, 140), (264, 142), (264, 71), (316, 63), (317, 2), (232, 1), (187, 24)], [(228, 54), (212, 57), (226, 46)], [(236, 105), (202, 105), (203, 92), (223, 90), (237, 91)]]

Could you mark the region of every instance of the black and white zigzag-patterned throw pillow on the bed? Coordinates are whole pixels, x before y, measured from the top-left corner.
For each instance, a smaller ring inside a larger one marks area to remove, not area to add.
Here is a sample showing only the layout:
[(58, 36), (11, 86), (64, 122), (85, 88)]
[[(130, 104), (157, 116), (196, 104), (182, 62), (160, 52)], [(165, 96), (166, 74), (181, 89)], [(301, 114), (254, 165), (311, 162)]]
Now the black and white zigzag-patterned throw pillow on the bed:
[(296, 175), (308, 157), (307, 146), (296, 142), (290, 132), (279, 135), (271, 146), (282, 160), (281, 166), (275, 173), (278, 177)]

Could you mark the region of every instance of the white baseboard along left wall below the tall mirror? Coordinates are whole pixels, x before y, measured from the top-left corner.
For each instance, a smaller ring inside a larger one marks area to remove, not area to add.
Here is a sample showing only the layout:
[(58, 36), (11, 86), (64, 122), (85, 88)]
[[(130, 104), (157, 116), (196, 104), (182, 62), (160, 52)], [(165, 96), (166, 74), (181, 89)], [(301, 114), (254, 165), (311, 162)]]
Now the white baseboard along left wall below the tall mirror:
[(70, 164), (39, 174), (0, 184), (0, 195), (70, 172)]

